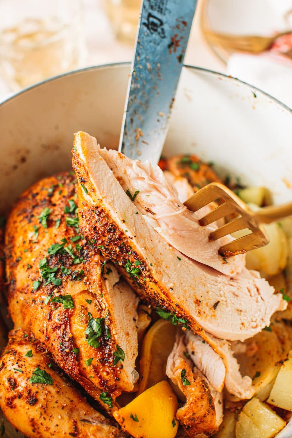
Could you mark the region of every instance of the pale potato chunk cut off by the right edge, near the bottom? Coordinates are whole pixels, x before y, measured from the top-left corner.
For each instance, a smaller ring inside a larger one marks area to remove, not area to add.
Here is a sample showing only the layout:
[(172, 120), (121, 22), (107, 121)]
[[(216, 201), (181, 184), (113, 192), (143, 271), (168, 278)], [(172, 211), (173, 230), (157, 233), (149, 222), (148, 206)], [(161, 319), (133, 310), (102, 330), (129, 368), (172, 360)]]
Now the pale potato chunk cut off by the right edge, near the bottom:
[(292, 411), (292, 351), (278, 372), (268, 403)]

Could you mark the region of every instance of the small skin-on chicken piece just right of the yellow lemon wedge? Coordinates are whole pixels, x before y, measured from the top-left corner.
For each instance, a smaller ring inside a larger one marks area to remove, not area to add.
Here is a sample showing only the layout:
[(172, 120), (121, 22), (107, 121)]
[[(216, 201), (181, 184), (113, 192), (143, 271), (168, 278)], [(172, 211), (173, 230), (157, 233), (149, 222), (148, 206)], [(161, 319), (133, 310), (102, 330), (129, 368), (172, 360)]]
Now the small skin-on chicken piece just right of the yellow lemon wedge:
[(176, 419), (190, 437), (209, 437), (223, 419), (222, 394), (215, 391), (206, 377), (186, 359), (186, 346), (179, 335), (170, 353), (166, 374), (186, 397), (186, 403), (176, 412)]

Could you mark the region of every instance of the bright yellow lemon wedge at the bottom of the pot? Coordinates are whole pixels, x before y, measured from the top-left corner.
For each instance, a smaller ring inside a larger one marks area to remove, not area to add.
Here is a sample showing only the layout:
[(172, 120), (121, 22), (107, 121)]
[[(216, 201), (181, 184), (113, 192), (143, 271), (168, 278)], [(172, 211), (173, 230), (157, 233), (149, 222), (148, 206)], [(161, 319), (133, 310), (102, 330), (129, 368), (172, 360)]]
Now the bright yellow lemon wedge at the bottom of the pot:
[(178, 407), (169, 383), (161, 381), (113, 415), (122, 429), (135, 438), (174, 438), (178, 429), (174, 418)]

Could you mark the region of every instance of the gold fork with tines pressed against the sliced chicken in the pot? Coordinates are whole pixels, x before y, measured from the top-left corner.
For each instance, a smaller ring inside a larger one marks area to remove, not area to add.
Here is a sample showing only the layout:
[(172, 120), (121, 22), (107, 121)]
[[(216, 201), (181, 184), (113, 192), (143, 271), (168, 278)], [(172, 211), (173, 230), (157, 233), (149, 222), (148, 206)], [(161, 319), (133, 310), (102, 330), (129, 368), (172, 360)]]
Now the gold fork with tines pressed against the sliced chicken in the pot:
[(267, 245), (269, 237), (264, 227), (260, 224), (271, 223), (292, 215), (292, 202), (263, 207), (254, 212), (234, 192), (220, 183), (211, 183), (201, 188), (187, 199), (184, 205), (189, 210), (196, 212), (218, 199), (223, 199), (224, 203), (218, 205), (218, 207), (202, 217), (199, 220), (200, 225), (209, 225), (218, 219), (226, 218), (226, 216), (234, 213), (237, 213), (237, 216), (229, 220), (225, 225), (212, 231), (209, 234), (209, 239), (217, 240), (227, 234), (235, 233), (239, 230), (247, 230), (245, 236), (239, 237), (220, 247), (219, 254), (225, 258), (244, 254), (247, 251)]

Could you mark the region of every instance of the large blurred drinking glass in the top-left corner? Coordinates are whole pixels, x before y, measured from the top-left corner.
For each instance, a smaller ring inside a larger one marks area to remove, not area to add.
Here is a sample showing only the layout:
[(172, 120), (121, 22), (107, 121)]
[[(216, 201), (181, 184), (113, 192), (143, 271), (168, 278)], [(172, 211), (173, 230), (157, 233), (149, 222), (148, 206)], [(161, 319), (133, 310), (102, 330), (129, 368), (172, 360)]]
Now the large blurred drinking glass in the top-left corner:
[(0, 0), (0, 74), (17, 91), (78, 67), (81, 0)]

